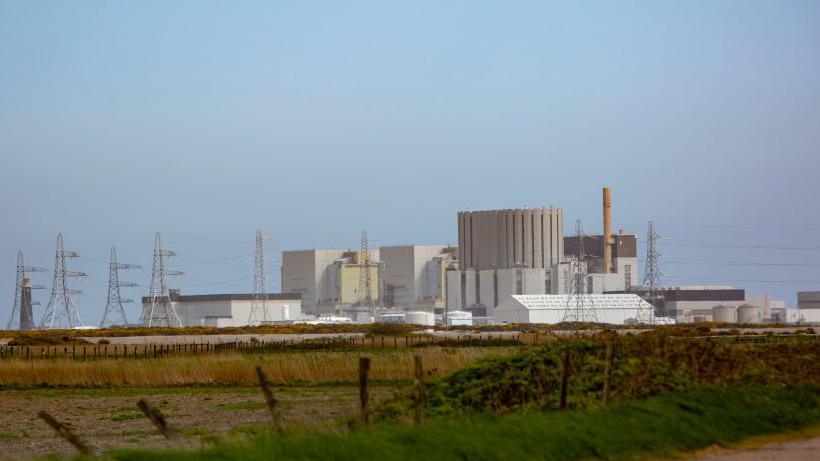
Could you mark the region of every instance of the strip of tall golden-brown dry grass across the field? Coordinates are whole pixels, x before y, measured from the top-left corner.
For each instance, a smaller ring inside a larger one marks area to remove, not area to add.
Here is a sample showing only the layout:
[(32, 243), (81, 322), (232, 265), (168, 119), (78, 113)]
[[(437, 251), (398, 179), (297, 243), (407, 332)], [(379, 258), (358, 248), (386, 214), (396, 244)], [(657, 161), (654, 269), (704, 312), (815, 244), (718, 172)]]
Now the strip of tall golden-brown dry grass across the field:
[[(371, 378), (395, 381), (413, 378), (413, 355), (422, 356), (425, 369), (440, 375), (475, 360), (506, 355), (516, 348), (441, 348), (379, 351), (372, 357)], [(300, 352), (265, 355), (203, 354), (161, 359), (89, 362), (71, 359), (0, 361), (0, 387), (96, 386), (252, 386), (254, 367), (261, 365), (275, 383), (334, 382), (358, 379), (361, 352)]]

